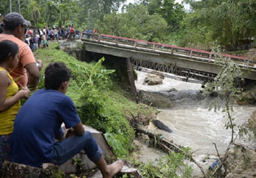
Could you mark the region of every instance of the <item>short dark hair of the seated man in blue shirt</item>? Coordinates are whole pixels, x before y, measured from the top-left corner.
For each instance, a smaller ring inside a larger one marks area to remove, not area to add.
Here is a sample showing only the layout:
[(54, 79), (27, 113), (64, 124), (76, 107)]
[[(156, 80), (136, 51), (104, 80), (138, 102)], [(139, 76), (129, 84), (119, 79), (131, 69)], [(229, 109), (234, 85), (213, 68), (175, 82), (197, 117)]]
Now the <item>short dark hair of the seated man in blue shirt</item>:
[(45, 88), (57, 90), (62, 82), (69, 81), (70, 70), (63, 62), (50, 63), (45, 69)]

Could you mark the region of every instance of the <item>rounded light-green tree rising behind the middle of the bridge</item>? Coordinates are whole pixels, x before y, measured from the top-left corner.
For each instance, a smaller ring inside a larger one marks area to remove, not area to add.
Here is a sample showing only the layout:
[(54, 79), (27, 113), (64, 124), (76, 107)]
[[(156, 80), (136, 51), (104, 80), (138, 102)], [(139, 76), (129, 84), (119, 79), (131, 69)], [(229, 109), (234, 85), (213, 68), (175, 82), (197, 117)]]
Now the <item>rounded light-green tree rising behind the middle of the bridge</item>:
[(99, 30), (116, 36), (163, 42), (167, 29), (165, 20), (159, 14), (150, 15), (142, 4), (130, 7), (126, 13), (106, 14), (103, 21), (96, 24)]

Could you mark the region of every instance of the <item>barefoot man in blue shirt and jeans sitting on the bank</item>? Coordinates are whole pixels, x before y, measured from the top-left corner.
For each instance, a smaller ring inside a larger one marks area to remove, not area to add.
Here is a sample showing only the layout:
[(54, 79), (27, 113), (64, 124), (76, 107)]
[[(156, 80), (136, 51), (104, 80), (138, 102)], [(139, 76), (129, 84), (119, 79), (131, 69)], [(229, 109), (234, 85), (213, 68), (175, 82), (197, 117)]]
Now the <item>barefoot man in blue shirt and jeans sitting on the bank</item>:
[[(46, 162), (61, 165), (83, 149), (103, 177), (111, 178), (124, 163), (106, 165), (101, 148), (92, 134), (85, 132), (74, 103), (65, 95), (69, 78), (70, 70), (64, 63), (55, 62), (46, 67), (46, 89), (36, 91), (15, 118), (11, 160), (33, 167)], [(72, 128), (74, 136), (65, 139), (62, 122), (66, 128)]]

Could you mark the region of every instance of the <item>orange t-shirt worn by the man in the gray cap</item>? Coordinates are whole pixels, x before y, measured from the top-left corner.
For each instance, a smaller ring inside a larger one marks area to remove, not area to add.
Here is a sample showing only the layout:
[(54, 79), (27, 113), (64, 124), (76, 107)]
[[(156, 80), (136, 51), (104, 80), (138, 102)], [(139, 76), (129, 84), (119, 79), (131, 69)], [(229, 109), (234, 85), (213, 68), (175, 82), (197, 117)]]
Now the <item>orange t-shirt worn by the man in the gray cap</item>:
[[(14, 79), (14, 81), (17, 83), (19, 87), (25, 87), (27, 86), (27, 72), (24, 66), (30, 63), (35, 63), (35, 57), (29, 47), (29, 45), (22, 40), (16, 38), (13, 35), (10, 34), (0, 34), (0, 42), (3, 40), (10, 40), (14, 43), (16, 43), (19, 46), (19, 62), (15, 69), (10, 71), (10, 75)], [(2, 50), (2, 49), (0, 49)], [(19, 78), (18, 80), (15, 80), (16, 78)]]

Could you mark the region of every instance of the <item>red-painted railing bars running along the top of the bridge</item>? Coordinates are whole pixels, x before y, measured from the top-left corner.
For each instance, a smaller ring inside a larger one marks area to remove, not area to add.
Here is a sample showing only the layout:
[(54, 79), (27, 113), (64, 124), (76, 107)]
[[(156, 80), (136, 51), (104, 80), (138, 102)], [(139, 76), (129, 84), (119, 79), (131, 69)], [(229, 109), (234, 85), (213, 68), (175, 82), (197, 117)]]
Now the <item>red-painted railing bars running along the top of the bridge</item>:
[[(208, 59), (208, 62), (211, 62), (211, 56), (215, 54), (215, 53), (200, 50), (200, 49), (192, 49), (192, 48), (187, 48), (187, 47), (173, 46), (170, 44), (147, 42), (144, 40), (118, 37), (118, 36), (113, 36), (113, 35), (109, 35), (109, 34), (81, 33), (80, 39), (82, 39), (83, 34), (93, 37), (93, 39), (97, 40), (98, 42), (101, 42), (101, 40), (104, 40), (104, 41), (111, 40), (111, 42), (114, 42), (116, 46), (118, 46), (118, 44), (130, 43), (130, 45), (133, 45), (133, 49), (138, 49), (139, 47), (144, 47), (144, 48), (152, 50), (152, 52), (155, 52), (155, 50), (164, 51), (164, 49), (167, 49), (167, 50), (171, 50), (171, 53), (173, 54), (174, 50), (175, 50), (175, 53), (186, 54), (186, 55), (189, 55), (190, 58), (192, 58), (192, 57), (206, 58), (206, 59)], [(170, 52), (170, 51), (168, 51), (168, 52)], [(227, 55), (227, 54), (223, 54), (223, 57), (227, 57), (230, 60), (232, 59), (232, 60), (239, 60), (240, 62), (246, 62), (246, 67), (247, 68), (249, 67), (250, 60), (247, 57), (232, 56), (232, 55)]]

